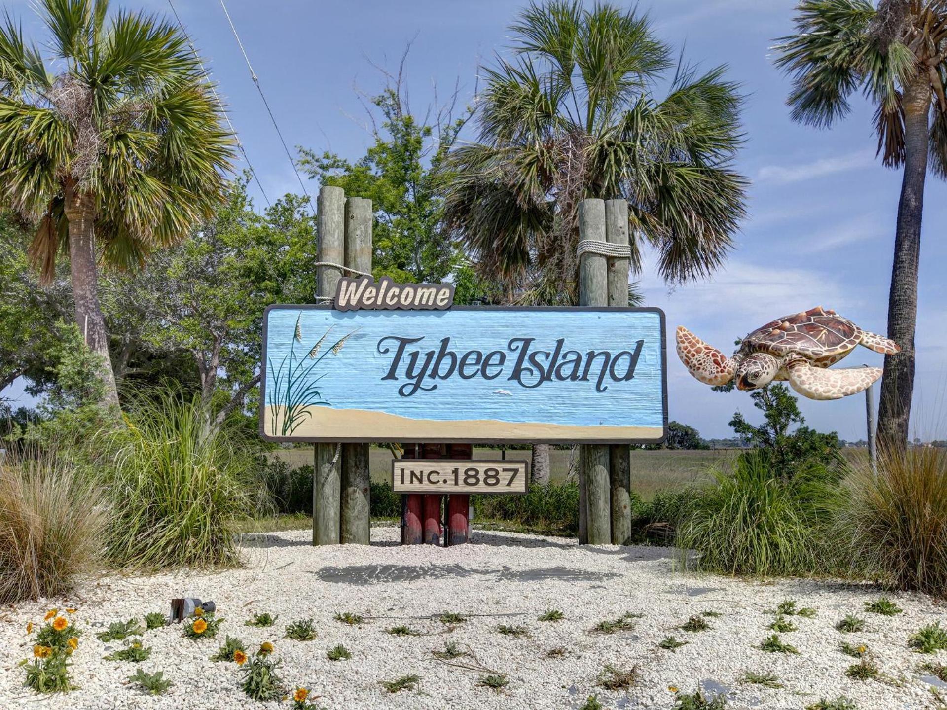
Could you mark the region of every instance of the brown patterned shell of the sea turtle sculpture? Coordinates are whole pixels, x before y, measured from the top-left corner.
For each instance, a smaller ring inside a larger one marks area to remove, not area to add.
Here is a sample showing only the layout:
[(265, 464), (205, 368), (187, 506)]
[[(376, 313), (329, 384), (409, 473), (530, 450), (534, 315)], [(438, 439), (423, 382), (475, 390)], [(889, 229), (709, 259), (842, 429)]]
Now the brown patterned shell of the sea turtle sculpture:
[(860, 332), (848, 318), (820, 306), (770, 321), (747, 335), (742, 345), (777, 356), (796, 352), (819, 360), (848, 353), (858, 345)]

